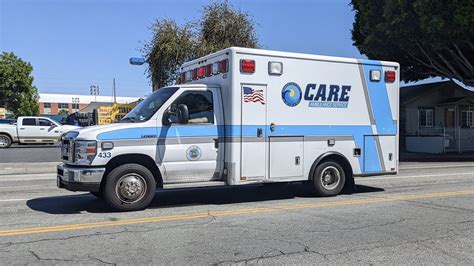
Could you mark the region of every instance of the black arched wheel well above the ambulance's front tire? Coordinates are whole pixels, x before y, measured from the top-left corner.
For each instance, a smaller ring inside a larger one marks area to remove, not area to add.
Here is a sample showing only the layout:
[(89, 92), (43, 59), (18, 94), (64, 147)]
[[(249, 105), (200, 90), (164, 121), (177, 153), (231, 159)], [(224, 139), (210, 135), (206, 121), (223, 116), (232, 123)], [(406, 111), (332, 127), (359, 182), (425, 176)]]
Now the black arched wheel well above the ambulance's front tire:
[[(114, 157), (105, 166), (104, 177), (106, 177), (117, 166), (126, 163), (135, 163), (145, 166), (153, 174), (153, 177), (157, 183), (157, 187), (161, 187), (163, 185), (163, 178), (161, 176), (160, 169), (158, 169), (155, 161), (150, 156), (144, 154), (122, 154)], [(104, 184), (104, 180), (105, 178), (102, 178), (101, 188)]]

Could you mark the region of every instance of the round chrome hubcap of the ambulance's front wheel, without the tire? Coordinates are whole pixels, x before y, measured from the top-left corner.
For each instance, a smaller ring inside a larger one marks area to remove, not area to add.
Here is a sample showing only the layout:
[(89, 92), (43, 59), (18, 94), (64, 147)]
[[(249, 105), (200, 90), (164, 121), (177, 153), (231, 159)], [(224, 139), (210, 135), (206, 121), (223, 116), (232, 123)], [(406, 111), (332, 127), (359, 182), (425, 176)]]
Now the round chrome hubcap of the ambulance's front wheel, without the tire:
[(123, 203), (140, 201), (147, 190), (145, 179), (135, 173), (122, 176), (115, 185), (115, 192)]

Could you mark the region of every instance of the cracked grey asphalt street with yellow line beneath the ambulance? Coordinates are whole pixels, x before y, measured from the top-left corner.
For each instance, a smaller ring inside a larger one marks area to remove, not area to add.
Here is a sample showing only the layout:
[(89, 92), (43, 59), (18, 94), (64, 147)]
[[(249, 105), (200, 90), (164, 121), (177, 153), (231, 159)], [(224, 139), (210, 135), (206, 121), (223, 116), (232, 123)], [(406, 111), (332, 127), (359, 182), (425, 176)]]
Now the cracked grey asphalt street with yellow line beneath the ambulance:
[(299, 184), (157, 192), (111, 212), (54, 175), (0, 177), (0, 264), (474, 263), (474, 163), (407, 163), (357, 191)]

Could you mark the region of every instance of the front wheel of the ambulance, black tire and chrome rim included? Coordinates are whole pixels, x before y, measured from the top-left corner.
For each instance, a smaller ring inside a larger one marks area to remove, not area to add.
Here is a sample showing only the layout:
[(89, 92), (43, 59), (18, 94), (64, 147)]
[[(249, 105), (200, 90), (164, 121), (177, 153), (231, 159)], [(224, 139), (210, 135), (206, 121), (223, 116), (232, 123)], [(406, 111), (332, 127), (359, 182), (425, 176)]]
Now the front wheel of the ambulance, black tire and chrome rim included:
[(106, 177), (103, 197), (117, 211), (142, 210), (155, 196), (153, 174), (143, 165), (124, 164), (113, 169)]

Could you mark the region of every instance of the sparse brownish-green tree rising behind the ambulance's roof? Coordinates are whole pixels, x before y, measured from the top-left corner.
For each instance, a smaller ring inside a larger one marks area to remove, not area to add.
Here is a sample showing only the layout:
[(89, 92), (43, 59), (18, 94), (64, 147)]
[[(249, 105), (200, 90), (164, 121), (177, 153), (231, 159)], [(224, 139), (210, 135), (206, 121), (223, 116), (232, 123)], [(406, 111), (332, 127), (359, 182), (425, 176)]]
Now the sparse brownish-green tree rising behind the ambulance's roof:
[(154, 89), (172, 84), (182, 63), (231, 46), (258, 47), (249, 14), (228, 2), (205, 6), (200, 19), (178, 25), (174, 20), (155, 21), (153, 38), (143, 49)]

